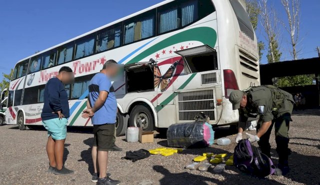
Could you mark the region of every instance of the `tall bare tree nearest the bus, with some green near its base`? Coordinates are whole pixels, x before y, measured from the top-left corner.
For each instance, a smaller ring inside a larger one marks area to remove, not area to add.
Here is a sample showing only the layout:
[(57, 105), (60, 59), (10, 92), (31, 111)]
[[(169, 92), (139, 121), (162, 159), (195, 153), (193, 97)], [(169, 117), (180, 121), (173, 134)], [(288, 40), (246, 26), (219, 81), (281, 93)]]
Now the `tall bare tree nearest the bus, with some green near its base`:
[(265, 32), (265, 39), (268, 41), (268, 63), (279, 62), (282, 53), (279, 51), (277, 28), (278, 19), (274, 8), (267, 3), (268, 0), (261, 0), (258, 3), (260, 9), (261, 25)]

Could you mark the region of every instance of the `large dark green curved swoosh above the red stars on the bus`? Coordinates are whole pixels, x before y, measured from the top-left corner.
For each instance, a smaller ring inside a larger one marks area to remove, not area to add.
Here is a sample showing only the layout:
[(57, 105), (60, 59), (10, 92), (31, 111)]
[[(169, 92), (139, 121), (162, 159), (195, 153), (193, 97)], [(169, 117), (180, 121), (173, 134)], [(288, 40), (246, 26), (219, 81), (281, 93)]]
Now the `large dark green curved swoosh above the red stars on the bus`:
[(153, 46), (147, 48), (145, 51), (143, 51), (142, 53), (132, 58), (126, 64), (139, 62), (143, 58), (159, 50), (162, 50), (165, 47), (168, 47), (180, 42), (190, 41), (190, 40), (199, 41), (199, 42), (202, 42), (203, 44), (209, 45), (210, 47), (214, 47), (216, 43), (216, 38), (217, 38), (216, 31), (210, 27), (191, 28), (191, 29), (179, 32), (175, 35), (172, 35), (158, 42), (157, 44), (154, 44)]

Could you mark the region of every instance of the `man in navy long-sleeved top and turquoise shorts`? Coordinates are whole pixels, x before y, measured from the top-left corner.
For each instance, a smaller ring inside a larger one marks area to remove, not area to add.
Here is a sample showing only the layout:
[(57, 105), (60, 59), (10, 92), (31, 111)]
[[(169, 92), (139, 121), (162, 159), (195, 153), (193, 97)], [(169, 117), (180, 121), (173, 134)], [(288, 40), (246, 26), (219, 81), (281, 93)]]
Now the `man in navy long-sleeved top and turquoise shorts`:
[(69, 117), (69, 103), (63, 84), (72, 82), (73, 72), (63, 66), (56, 78), (51, 78), (44, 88), (44, 104), (41, 113), (42, 125), (48, 131), (46, 153), (49, 158), (49, 173), (56, 175), (72, 174), (63, 167), (63, 150), (66, 138), (66, 125)]

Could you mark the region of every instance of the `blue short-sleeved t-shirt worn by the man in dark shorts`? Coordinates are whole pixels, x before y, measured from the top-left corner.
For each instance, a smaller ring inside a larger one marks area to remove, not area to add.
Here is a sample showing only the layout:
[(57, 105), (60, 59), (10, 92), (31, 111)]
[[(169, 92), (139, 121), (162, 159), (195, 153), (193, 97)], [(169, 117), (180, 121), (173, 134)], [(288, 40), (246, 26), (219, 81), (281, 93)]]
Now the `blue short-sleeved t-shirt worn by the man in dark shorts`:
[(97, 73), (90, 81), (89, 99), (91, 107), (93, 107), (100, 91), (107, 91), (108, 96), (102, 107), (94, 113), (92, 124), (115, 124), (117, 105), (114, 89), (109, 78), (103, 73)]

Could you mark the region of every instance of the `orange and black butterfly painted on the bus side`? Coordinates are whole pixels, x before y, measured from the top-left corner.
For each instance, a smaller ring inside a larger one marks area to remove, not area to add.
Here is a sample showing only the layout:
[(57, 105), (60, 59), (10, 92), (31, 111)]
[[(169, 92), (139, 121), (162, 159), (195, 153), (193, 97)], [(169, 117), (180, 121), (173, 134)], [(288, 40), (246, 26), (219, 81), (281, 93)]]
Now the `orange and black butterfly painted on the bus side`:
[(159, 88), (160, 91), (164, 92), (170, 84), (170, 80), (174, 75), (175, 69), (178, 65), (183, 65), (183, 59), (177, 60), (171, 64), (168, 70), (162, 75), (158, 64), (152, 58), (150, 59), (151, 65), (153, 65), (153, 77), (154, 77), (154, 88)]

